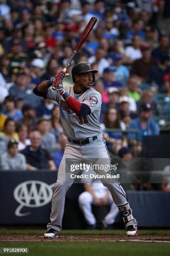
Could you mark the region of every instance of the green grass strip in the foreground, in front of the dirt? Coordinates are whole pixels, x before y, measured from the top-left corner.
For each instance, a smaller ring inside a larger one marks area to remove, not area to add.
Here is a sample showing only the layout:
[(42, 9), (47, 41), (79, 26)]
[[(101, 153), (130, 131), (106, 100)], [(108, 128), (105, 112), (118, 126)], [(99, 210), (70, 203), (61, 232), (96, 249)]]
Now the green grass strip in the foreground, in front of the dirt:
[[(26, 242), (0, 247), (28, 247), (31, 256), (169, 256), (170, 245), (142, 242)], [(11, 254), (12, 255), (12, 254)], [(13, 254), (14, 255), (14, 254)], [(25, 254), (28, 255), (28, 254)]]

